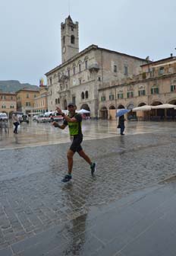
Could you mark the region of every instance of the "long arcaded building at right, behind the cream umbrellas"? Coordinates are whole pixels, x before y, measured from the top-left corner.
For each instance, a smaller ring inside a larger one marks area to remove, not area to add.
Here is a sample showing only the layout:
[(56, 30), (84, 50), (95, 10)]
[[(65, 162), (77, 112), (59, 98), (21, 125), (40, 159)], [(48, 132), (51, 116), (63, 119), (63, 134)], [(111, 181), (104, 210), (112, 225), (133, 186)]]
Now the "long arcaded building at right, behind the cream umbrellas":
[[(110, 95), (113, 95), (110, 100)], [(115, 109), (140, 107), (145, 104), (176, 105), (176, 57), (160, 59), (141, 66), (139, 75), (127, 78), (111, 88), (99, 88), (99, 107), (102, 117), (115, 119)], [(130, 115), (134, 113), (130, 113)], [(137, 112), (137, 117), (170, 117), (176, 116), (176, 110), (151, 110)]]

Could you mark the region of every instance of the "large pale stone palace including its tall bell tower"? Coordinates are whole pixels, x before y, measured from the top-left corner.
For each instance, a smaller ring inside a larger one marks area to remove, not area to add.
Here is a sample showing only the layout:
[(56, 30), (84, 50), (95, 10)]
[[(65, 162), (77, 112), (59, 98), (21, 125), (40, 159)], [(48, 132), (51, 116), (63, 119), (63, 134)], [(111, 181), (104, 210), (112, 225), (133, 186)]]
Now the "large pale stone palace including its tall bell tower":
[(46, 73), (48, 108), (59, 104), (66, 109), (73, 101), (77, 109), (90, 110), (91, 117), (109, 117), (105, 107), (117, 105), (115, 85), (133, 79), (149, 62), (96, 45), (79, 53), (78, 23), (70, 16), (61, 23), (61, 53), (61, 65)]

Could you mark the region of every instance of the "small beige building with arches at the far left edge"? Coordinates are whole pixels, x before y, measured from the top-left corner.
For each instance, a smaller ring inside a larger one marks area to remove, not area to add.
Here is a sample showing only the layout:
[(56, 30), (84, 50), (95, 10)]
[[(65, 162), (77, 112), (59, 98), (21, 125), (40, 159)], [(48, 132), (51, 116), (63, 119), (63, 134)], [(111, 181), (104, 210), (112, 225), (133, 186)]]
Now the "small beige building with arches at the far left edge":
[(0, 91), (0, 112), (11, 117), (12, 112), (17, 110), (17, 94), (14, 92)]

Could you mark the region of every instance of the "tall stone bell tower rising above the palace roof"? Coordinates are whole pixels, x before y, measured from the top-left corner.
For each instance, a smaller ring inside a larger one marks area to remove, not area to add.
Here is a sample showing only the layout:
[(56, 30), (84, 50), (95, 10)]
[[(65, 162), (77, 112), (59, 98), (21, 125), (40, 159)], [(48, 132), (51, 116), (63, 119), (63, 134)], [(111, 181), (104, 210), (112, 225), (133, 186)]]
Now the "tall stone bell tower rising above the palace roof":
[(78, 22), (74, 23), (69, 15), (61, 23), (61, 62), (71, 59), (79, 53)]

